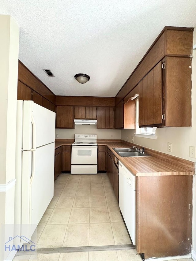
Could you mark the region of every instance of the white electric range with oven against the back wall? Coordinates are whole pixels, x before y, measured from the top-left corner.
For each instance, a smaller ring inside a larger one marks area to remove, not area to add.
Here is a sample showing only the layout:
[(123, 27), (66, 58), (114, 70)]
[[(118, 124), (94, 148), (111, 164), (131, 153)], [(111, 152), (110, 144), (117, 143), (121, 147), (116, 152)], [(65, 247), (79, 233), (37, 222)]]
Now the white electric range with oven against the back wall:
[(97, 135), (75, 134), (71, 147), (71, 174), (96, 174)]

